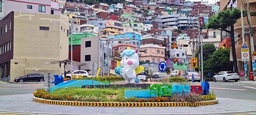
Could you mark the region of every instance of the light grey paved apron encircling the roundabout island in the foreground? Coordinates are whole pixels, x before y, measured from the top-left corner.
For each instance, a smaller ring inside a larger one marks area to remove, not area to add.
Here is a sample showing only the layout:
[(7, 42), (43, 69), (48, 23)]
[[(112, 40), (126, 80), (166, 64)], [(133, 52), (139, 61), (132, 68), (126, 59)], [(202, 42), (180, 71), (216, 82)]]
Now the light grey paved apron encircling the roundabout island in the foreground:
[(218, 98), (219, 104), (195, 107), (93, 107), (41, 104), (32, 101), (33, 94), (0, 96), (0, 114), (256, 114), (256, 101)]

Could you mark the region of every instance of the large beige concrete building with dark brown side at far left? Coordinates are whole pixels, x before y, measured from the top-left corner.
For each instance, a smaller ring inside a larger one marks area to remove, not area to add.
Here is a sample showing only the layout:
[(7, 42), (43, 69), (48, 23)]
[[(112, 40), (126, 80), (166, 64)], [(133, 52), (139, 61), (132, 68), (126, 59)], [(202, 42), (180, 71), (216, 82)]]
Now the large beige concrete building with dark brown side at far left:
[(10, 12), (0, 21), (1, 81), (13, 82), (31, 72), (61, 74), (66, 60), (69, 18), (63, 15)]

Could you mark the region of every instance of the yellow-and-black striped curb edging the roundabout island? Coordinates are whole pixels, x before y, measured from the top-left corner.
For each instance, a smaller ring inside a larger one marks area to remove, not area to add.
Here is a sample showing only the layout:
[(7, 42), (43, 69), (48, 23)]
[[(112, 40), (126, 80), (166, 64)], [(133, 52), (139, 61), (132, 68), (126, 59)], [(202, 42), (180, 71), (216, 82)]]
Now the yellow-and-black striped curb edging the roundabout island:
[(33, 96), (33, 101), (43, 104), (71, 105), (71, 106), (116, 106), (116, 107), (166, 107), (166, 106), (205, 106), (218, 103), (218, 99), (202, 102), (81, 102), (81, 101), (58, 101), (42, 99)]

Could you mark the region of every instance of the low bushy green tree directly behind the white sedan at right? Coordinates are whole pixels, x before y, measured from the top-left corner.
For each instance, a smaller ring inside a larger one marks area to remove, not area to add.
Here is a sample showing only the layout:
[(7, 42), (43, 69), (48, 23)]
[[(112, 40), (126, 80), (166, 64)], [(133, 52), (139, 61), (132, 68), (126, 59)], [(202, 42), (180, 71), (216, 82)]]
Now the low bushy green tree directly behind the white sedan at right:
[(208, 72), (211, 74), (217, 73), (219, 71), (232, 70), (232, 62), (229, 61), (230, 48), (220, 48), (209, 55), (207, 60), (204, 60), (204, 75)]

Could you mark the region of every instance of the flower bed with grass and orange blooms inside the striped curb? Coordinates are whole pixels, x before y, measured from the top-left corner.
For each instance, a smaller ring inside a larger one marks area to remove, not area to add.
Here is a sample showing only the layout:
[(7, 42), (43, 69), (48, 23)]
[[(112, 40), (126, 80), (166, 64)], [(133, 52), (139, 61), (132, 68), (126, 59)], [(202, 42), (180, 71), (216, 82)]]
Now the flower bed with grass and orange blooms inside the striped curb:
[[(43, 89), (36, 90), (33, 95), (37, 98), (61, 100), (61, 101), (86, 101), (86, 102), (200, 102), (216, 99), (213, 93), (200, 95), (188, 93), (185, 95), (172, 94), (168, 97), (150, 98), (125, 98), (126, 89), (59, 89), (51, 93)], [(130, 90), (130, 89), (129, 89)], [(111, 97), (112, 98), (108, 98)]]

